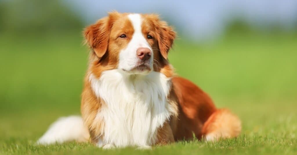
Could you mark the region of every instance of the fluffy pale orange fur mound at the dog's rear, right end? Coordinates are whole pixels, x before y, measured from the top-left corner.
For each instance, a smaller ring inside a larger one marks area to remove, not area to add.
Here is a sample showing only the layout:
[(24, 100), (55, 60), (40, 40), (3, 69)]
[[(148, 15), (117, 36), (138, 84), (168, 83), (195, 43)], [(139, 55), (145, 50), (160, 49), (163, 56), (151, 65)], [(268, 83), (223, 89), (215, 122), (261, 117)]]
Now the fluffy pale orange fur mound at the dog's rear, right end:
[(241, 121), (227, 109), (219, 109), (207, 119), (202, 128), (205, 140), (215, 141), (237, 137), (241, 132)]

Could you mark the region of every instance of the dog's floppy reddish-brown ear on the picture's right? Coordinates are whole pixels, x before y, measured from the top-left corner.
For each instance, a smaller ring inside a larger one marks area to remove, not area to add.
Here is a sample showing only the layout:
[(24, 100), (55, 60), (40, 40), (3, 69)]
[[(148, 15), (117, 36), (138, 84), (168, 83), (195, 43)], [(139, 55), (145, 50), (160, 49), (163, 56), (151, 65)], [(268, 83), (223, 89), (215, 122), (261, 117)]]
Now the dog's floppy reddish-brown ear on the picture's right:
[(165, 21), (160, 20), (158, 15), (149, 15), (149, 18), (151, 18), (155, 26), (161, 55), (167, 60), (168, 51), (170, 50), (173, 40), (176, 37), (176, 32), (171, 26), (168, 26)]

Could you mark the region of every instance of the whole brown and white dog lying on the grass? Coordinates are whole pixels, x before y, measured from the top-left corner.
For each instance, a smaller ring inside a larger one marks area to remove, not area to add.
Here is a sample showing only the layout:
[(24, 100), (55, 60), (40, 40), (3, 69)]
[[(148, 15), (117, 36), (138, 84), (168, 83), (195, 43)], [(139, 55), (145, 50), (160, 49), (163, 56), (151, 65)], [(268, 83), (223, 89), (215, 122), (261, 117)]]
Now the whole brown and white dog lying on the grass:
[(111, 12), (84, 31), (91, 48), (81, 114), (60, 118), (41, 144), (91, 141), (150, 147), (178, 140), (231, 138), (240, 120), (176, 76), (168, 51), (176, 33), (154, 14)]

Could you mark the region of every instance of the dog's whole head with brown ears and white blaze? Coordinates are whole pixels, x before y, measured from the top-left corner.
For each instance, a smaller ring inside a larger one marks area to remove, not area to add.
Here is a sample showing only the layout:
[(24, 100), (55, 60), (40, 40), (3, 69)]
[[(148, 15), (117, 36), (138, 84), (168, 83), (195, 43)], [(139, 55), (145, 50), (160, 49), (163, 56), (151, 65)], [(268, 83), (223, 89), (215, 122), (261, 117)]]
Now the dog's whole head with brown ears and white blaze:
[(93, 50), (94, 67), (146, 75), (168, 63), (176, 34), (157, 15), (112, 12), (87, 27), (84, 35)]

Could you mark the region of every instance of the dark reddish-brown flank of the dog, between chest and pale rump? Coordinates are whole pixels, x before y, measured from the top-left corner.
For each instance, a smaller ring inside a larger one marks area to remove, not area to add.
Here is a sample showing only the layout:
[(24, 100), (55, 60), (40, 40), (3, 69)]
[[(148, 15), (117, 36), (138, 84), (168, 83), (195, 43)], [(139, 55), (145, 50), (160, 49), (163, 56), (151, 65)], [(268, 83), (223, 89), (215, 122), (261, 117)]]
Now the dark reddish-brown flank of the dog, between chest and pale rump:
[(189, 80), (175, 77), (172, 82), (179, 103), (175, 140), (192, 139), (193, 133), (200, 139), (203, 124), (216, 108), (211, 98)]

